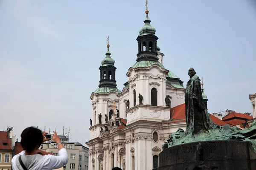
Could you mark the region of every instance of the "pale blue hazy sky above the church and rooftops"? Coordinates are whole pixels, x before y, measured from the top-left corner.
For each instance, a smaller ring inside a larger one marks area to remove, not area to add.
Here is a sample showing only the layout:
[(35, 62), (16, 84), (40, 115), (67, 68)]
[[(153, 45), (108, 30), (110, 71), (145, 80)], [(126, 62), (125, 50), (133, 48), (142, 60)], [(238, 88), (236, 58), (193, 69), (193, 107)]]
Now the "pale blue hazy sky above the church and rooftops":
[[(148, 0), (163, 65), (186, 87), (189, 68), (204, 77), (209, 113), (252, 113), (256, 93), (253, 0)], [(122, 91), (136, 61), (145, 0), (0, 0), (0, 130), (70, 127), (89, 140), (90, 95), (107, 51)], [(85, 145), (85, 144), (84, 144)]]

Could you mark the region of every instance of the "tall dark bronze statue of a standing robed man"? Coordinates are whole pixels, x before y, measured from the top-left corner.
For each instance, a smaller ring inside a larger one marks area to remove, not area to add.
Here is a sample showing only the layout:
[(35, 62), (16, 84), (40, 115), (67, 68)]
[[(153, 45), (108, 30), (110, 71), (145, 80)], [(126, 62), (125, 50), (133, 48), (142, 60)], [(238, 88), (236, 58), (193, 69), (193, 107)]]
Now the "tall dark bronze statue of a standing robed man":
[(186, 135), (207, 132), (214, 128), (214, 123), (207, 112), (201, 91), (201, 83), (195, 75), (194, 68), (189, 69), (189, 81), (186, 85), (185, 113), (186, 113)]

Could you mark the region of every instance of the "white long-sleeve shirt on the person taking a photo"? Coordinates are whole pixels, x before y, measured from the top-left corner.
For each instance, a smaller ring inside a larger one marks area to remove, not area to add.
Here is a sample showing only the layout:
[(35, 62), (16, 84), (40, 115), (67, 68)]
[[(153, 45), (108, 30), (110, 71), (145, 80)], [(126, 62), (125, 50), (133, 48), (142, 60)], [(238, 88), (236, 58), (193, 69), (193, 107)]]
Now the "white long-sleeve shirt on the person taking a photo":
[(67, 150), (64, 148), (58, 151), (59, 156), (25, 155), (24, 153), (23, 150), (12, 158), (13, 170), (23, 170), (19, 162), (19, 156), (21, 156), (21, 160), (28, 170), (53, 170), (63, 167), (68, 162)]

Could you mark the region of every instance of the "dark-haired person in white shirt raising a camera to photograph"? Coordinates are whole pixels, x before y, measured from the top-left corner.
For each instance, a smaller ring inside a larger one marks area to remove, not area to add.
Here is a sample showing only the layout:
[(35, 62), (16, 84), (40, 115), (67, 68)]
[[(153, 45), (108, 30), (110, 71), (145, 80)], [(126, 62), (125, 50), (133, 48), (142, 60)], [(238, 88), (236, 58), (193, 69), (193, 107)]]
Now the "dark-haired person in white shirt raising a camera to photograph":
[(27, 127), (21, 133), (20, 144), (23, 151), (12, 158), (12, 170), (52, 170), (63, 167), (68, 162), (67, 150), (61, 143), (56, 132), (52, 140), (58, 146), (58, 155), (44, 155), (37, 153), (40, 145), (51, 139), (46, 139), (47, 132), (42, 132), (36, 127)]

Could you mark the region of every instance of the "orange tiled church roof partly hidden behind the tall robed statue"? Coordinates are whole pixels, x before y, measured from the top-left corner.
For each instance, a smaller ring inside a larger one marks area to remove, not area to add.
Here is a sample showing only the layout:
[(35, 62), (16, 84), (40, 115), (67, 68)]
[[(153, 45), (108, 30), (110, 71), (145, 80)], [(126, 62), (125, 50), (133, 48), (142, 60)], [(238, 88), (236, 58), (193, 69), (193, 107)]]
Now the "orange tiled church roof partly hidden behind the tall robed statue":
[[(228, 125), (228, 123), (222, 121), (221, 119), (218, 119), (217, 117), (213, 116), (212, 114), (209, 114), (210, 118), (212, 119), (212, 122), (214, 122), (217, 125)], [(170, 116), (171, 121), (164, 122), (164, 123), (177, 123), (177, 122), (186, 122), (186, 116), (185, 116), (185, 103), (181, 105), (177, 105), (174, 108), (170, 109)]]

